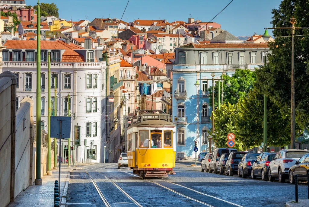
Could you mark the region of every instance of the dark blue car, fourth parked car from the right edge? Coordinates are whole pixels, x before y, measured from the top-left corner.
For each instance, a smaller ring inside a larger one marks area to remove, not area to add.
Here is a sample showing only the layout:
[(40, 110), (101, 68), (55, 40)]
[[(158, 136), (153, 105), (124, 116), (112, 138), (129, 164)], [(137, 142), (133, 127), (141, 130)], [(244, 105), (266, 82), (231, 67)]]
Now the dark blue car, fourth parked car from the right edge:
[(243, 158), (238, 163), (238, 177), (246, 178), (248, 175), (251, 175), (252, 164), (256, 161), (260, 153), (248, 153), (243, 156)]

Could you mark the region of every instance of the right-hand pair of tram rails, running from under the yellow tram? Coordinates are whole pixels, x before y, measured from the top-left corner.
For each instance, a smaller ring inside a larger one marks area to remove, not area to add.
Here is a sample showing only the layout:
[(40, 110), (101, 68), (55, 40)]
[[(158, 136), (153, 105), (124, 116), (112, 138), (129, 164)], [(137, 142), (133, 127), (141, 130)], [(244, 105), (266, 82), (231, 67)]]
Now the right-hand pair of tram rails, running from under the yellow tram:
[[(122, 171), (122, 170), (118, 170), (118, 171), (124, 172), (124, 173), (127, 173), (127, 174), (129, 174), (129, 175), (133, 175), (133, 176), (135, 176), (135, 177), (140, 178), (140, 176), (134, 175), (134, 174), (129, 173), (129, 172), (125, 172), (125, 171)], [(180, 192), (177, 192), (177, 191), (175, 191), (175, 190), (173, 190), (173, 189), (171, 189), (171, 188), (167, 188), (166, 186), (163, 186), (163, 185), (161, 185), (161, 184), (159, 184), (159, 183), (157, 183), (157, 182), (154, 182), (154, 181), (152, 181), (152, 180), (148, 180), (148, 179), (143, 179), (143, 180), (146, 180), (146, 181), (148, 181), (148, 182), (151, 182), (151, 183), (154, 183), (154, 184), (156, 184), (156, 185), (159, 185), (159, 186), (162, 187), (162, 188), (165, 188), (165, 189), (167, 189), (167, 190), (169, 190), (169, 191), (171, 191), (171, 192), (174, 192), (174, 193), (176, 193), (176, 194), (178, 194), (178, 195), (180, 195), (180, 196), (183, 196), (183, 197), (188, 198), (188, 199), (190, 199), (190, 200), (196, 201), (196, 202), (201, 203), (201, 204), (203, 204), (203, 205), (214, 207), (214, 206), (212, 206), (212, 205), (210, 205), (210, 204), (207, 204), (207, 203), (205, 203), (205, 202), (202, 202), (202, 201), (199, 201), (199, 200), (194, 199), (194, 198), (192, 198), (192, 197), (186, 196), (186, 195), (184, 195), (184, 194), (182, 194), (182, 193), (180, 193)], [(179, 187), (185, 188), (185, 189), (187, 189), (187, 190), (196, 192), (196, 193), (201, 194), (201, 195), (204, 195), (204, 196), (211, 197), (211, 198), (213, 198), (213, 199), (216, 199), (216, 200), (218, 200), (218, 201), (225, 202), (225, 203), (230, 204), (230, 205), (233, 205), (233, 206), (243, 207), (243, 206), (241, 206), (241, 205), (232, 203), (232, 202), (230, 202), (230, 201), (226, 201), (226, 200), (223, 200), (223, 199), (221, 199), (221, 198), (217, 198), (217, 197), (215, 197), (215, 196), (211, 196), (211, 195), (208, 195), (208, 194), (205, 194), (205, 193), (202, 193), (202, 192), (193, 190), (193, 189), (188, 188), (188, 187), (185, 187), (185, 186), (183, 186), (183, 185), (179, 185), (179, 184), (176, 184), (176, 183), (172, 183), (172, 182), (167, 181), (167, 180), (162, 180), (162, 181), (167, 182), (167, 183), (170, 183), (170, 184), (177, 185), (177, 186), (179, 186)]]

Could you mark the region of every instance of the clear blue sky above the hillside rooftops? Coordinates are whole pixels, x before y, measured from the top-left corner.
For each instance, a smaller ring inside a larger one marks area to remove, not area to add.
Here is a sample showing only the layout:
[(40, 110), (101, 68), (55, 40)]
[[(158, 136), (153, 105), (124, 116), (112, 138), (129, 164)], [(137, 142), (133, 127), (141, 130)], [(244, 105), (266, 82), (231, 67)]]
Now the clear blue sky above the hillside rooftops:
[[(169, 22), (192, 18), (203, 22), (210, 21), (231, 0), (130, 0), (123, 17), (124, 21), (134, 19), (167, 19)], [(127, 0), (40, 0), (54, 2), (59, 8), (59, 15), (64, 19), (78, 21), (94, 18), (121, 18)], [(35, 5), (37, 0), (26, 0), (27, 5)], [(235, 36), (264, 33), (270, 24), (273, 8), (277, 8), (281, 0), (234, 0), (213, 21), (221, 24), (221, 28)], [(136, 11), (139, 9), (139, 11)]]

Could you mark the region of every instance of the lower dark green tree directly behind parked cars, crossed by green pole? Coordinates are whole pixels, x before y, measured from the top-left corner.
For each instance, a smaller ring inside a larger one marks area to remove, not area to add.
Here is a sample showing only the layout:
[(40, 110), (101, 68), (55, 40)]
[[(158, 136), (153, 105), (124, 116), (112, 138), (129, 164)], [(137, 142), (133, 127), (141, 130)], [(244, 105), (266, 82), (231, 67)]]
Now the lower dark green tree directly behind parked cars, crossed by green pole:
[[(237, 136), (243, 147), (250, 149), (263, 142), (264, 99), (256, 90), (251, 90), (239, 100), (236, 118)], [(221, 109), (220, 109), (221, 110)], [(286, 146), (290, 144), (290, 116), (282, 115), (280, 108), (267, 101), (267, 145)]]

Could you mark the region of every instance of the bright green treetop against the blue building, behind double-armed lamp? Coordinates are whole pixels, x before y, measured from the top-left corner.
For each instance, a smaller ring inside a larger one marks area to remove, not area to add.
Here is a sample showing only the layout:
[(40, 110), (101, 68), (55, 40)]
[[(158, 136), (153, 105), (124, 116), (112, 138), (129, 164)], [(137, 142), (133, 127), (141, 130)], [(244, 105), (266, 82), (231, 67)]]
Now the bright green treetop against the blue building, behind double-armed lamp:
[[(231, 86), (227, 87), (226, 82), (228, 80), (224, 80), (223, 82), (223, 102), (236, 104), (239, 99), (242, 99), (247, 95), (249, 90), (253, 88), (253, 85), (256, 81), (256, 74), (254, 71), (250, 71), (248, 69), (236, 69), (235, 73), (232, 77), (228, 75), (223, 75), (224, 79), (228, 79), (231, 82)], [(221, 90), (220, 86), (220, 90)], [(208, 88), (209, 95), (209, 103), (212, 106), (212, 86)], [(218, 83), (216, 83), (214, 87), (214, 106), (218, 106)], [(222, 93), (222, 91), (220, 91)], [(220, 97), (221, 99), (221, 97)]]

